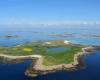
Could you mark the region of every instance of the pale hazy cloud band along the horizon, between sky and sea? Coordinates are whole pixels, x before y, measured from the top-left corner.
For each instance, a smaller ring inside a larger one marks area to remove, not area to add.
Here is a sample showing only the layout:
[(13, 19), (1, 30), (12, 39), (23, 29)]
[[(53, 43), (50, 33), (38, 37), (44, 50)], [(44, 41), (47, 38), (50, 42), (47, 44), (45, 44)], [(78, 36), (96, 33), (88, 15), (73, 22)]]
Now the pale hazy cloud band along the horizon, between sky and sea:
[(11, 21), (11, 22), (0, 22), (0, 25), (100, 25), (100, 21)]

